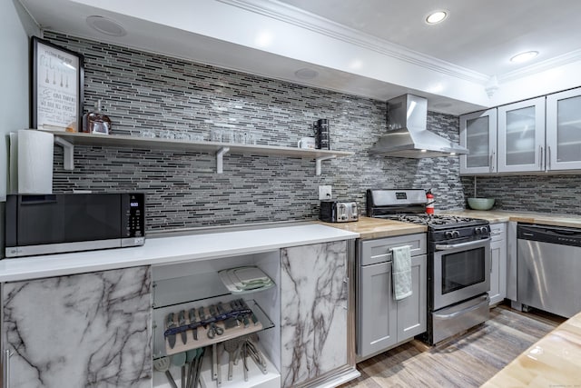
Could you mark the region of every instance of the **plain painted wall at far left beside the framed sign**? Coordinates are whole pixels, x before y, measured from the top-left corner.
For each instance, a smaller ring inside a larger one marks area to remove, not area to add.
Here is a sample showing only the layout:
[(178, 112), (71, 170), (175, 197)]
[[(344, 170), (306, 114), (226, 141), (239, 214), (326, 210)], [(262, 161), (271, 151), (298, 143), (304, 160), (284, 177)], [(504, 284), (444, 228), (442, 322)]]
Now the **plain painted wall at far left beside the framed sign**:
[(29, 35), (39, 29), (16, 0), (0, 1), (0, 257), (4, 257), (8, 133), (29, 127)]

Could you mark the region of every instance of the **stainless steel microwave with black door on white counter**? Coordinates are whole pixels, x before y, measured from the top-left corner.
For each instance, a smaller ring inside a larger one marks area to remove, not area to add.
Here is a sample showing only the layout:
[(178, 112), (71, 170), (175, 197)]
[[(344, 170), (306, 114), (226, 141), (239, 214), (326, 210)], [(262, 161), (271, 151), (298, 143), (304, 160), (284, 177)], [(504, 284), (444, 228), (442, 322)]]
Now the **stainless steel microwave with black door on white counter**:
[(143, 245), (145, 195), (6, 195), (5, 256)]

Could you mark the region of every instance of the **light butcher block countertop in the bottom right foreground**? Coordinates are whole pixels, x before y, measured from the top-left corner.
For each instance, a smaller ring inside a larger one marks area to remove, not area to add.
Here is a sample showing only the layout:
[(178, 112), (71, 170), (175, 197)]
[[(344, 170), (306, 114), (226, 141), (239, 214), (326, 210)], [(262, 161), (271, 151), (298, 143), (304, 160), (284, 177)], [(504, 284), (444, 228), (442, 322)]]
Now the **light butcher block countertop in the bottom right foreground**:
[(581, 385), (581, 313), (520, 354), (482, 387), (578, 387)]

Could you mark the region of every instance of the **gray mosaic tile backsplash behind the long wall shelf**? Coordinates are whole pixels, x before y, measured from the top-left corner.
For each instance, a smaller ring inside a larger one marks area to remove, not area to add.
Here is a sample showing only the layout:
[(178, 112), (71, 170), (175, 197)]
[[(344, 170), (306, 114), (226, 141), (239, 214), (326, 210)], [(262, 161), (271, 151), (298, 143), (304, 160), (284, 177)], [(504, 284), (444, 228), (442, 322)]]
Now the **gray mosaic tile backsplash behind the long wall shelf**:
[[(432, 188), (437, 209), (465, 205), (469, 184), (459, 177), (457, 157), (368, 153), (386, 131), (384, 101), (69, 35), (45, 32), (44, 38), (84, 55), (84, 111), (102, 99), (113, 134), (153, 130), (210, 140), (212, 128), (234, 128), (250, 132), (258, 144), (293, 147), (312, 134), (313, 121), (328, 118), (331, 149), (355, 153), (323, 162), (320, 176), (310, 159), (227, 154), (223, 174), (216, 174), (213, 154), (76, 146), (69, 172), (55, 147), (55, 193), (144, 192), (148, 231), (316, 219), (320, 184), (330, 184), (336, 199), (356, 200), (361, 212), (368, 188)], [(456, 116), (428, 112), (428, 129), (458, 142)]]

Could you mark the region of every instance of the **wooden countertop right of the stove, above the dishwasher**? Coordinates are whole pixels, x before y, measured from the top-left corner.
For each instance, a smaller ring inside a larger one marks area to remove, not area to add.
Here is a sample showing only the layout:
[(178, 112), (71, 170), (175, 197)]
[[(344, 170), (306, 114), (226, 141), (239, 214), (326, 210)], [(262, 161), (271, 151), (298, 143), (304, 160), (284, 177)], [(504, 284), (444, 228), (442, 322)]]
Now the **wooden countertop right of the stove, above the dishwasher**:
[(526, 213), (526, 212), (505, 212), (495, 210), (458, 210), (442, 212), (441, 214), (458, 214), (467, 217), (482, 218), (490, 223), (506, 223), (507, 221), (515, 221), (517, 223), (526, 224), (542, 224), (551, 226), (566, 226), (573, 228), (581, 228), (581, 216), (579, 215), (562, 215), (562, 214), (547, 214), (547, 213)]

